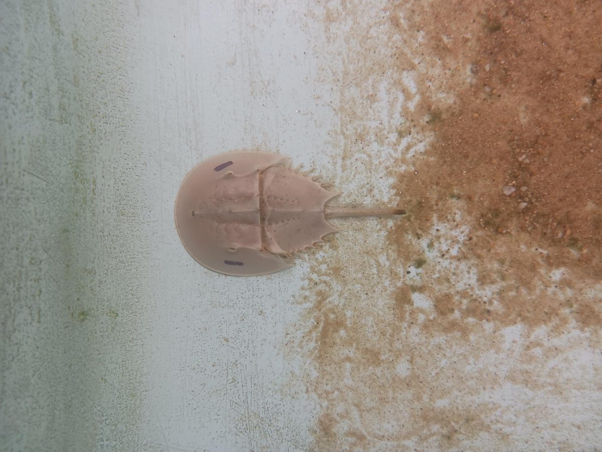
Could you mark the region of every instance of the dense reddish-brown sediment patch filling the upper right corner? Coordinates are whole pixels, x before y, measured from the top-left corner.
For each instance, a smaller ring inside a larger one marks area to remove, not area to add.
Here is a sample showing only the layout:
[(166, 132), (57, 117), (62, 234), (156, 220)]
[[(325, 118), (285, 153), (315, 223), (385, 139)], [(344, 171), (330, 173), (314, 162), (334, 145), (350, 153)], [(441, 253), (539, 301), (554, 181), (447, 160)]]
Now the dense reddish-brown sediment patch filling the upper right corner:
[(467, 80), (459, 77), (450, 104), (421, 100), (415, 124), (434, 139), (414, 165), (420, 183), (399, 174), (398, 187), (423, 202), (414, 211), (421, 221), (462, 201), (477, 229), (527, 231), (552, 265), (600, 280), (602, 40), (591, 34), (600, 4), (489, 2), (458, 14), (470, 11), (466, 3), (419, 19), (443, 70), (464, 69)]

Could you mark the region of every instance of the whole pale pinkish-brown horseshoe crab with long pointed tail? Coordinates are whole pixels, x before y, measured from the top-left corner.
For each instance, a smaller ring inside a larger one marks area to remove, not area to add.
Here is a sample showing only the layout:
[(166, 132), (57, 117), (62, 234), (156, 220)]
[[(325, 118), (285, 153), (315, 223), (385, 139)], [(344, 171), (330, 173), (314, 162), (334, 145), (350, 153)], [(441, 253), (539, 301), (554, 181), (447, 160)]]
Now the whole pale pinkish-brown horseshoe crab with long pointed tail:
[(175, 221), (194, 259), (228, 275), (268, 274), (293, 265), (297, 253), (337, 232), (328, 218), (405, 213), (326, 206), (340, 193), (282, 165), (286, 160), (270, 152), (227, 152), (188, 173)]

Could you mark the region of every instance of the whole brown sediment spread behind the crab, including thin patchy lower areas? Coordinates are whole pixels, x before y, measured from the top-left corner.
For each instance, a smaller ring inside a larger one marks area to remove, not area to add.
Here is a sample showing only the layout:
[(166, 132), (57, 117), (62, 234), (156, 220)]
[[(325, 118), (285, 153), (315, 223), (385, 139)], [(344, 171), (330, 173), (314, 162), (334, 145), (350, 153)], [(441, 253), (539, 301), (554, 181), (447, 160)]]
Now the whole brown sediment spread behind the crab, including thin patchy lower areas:
[(408, 215), (349, 223), (312, 264), (299, 345), (316, 448), (602, 441), (602, 6), (346, 2), (324, 17), (346, 49), (339, 182), (366, 180), (370, 198), (388, 168)]

